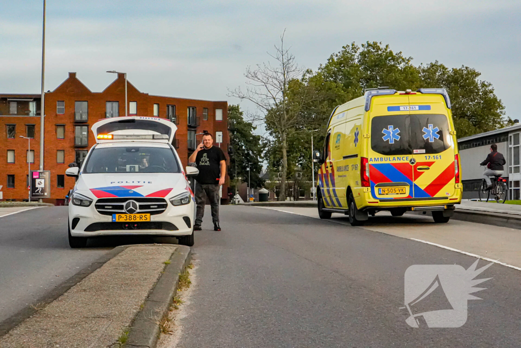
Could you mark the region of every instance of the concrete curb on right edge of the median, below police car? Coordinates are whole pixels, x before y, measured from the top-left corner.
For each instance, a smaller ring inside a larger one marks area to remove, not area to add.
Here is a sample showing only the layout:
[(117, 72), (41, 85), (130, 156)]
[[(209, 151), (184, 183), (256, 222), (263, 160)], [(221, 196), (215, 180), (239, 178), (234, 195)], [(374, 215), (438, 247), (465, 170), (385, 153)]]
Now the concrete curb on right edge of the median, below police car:
[(165, 267), (143, 309), (132, 323), (124, 347), (153, 348), (157, 345), (160, 332), (154, 318), (162, 318), (168, 313), (179, 285), (179, 274), (190, 263), (191, 254), (191, 248), (183, 245), (179, 245), (172, 253), (170, 264)]

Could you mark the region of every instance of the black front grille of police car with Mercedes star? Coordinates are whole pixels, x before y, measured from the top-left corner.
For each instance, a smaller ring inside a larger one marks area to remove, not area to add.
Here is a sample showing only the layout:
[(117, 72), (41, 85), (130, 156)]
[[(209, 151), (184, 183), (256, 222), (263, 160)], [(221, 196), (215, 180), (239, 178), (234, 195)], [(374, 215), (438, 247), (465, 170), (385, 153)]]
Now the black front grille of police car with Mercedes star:
[(129, 200), (138, 202), (139, 209), (137, 213), (157, 215), (164, 212), (168, 207), (166, 199), (154, 197), (100, 198), (96, 201), (94, 206), (97, 212), (102, 215), (126, 214), (123, 207)]

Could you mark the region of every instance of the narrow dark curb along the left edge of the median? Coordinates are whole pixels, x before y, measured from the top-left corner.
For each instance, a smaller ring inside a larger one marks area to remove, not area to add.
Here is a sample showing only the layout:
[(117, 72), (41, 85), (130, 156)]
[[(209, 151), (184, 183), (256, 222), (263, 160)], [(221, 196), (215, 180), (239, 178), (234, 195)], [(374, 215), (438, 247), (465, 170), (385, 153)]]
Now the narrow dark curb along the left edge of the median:
[[(69, 279), (67, 279), (65, 282), (61, 283), (55, 289), (52, 291), (46, 293), (44, 296), (40, 297), (37, 301), (34, 303), (41, 303), (44, 305), (47, 305), (56, 299), (60, 297), (61, 295), (65, 294), (72, 286), (75, 286), (79, 282), (81, 282), (83, 279), (85, 279), (89, 274), (93, 273), (98, 268), (105, 265), (105, 263), (110, 260), (111, 258), (116, 257), (121, 251), (125, 250), (127, 245), (117, 246), (114, 249), (110, 250), (107, 254), (103, 255), (99, 259), (97, 259), (94, 263), (91, 263), (90, 266), (85, 267)], [(24, 320), (31, 317), (34, 313), (36, 313), (36, 309), (34, 309), (31, 306), (28, 306), (27, 308), (24, 308), (20, 310), (15, 315), (9, 317), (8, 319), (0, 322), (0, 337), (5, 335), (10, 330), (17, 327), (20, 323), (22, 323)]]

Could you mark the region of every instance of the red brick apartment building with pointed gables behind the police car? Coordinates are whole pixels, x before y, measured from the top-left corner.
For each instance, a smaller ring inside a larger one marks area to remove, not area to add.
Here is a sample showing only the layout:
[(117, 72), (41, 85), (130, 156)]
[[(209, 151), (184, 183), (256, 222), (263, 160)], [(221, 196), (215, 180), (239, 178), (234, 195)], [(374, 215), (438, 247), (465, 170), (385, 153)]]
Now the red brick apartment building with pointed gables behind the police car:
[[(128, 82), (128, 81), (127, 81)], [(129, 116), (155, 116), (170, 119), (178, 130), (175, 146), (183, 166), (201, 142), (204, 131), (220, 142), (227, 155), (229, 144), (226, 101), (205, 101), (160, 97), (142, 93), (127, 85)], [(40, 94), (0, 94), (0, 185), (3, 200), (28, 199), (28, 162), (31, 170), (40, 167)], [(68, 164), (83, 162), (95, 144), (90, 129), (105, 117), (125, 115), (125, 77), (117, 79), (103, 92), (92, 92), (76, 77), (69, 78), (54, 91), (45, 93), (44, 170), (51, 171), (51, 199), (61, 205), (75, 179), (65, 176)], [(31, 138), (22, 139), (20, 136)], [(28, 152), (30, 141), (31, 152)], [(222, 187), (222, 203), (228, 201), (228, 179)]]

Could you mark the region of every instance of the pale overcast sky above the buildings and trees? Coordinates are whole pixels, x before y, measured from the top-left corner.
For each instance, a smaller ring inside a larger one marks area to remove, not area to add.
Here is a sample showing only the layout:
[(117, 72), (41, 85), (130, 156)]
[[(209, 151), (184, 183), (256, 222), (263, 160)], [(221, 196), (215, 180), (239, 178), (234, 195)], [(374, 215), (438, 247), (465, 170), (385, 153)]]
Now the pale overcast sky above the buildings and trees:
[[(128, 73), (142, 92), (239, 101), (248, 65), (286, 28), (297, 62), (315, 70), (343, 45), (381, 41), (414, 58), (476, 68), (506, 114), (521, 114), (521, 1), (48, 0), (45, 90), (69, 71), (92, 91)], [(43, 0), (0, 0), (0, 93), (39, 93)], [(249, 105), (244, 104), (246, 109)]]

